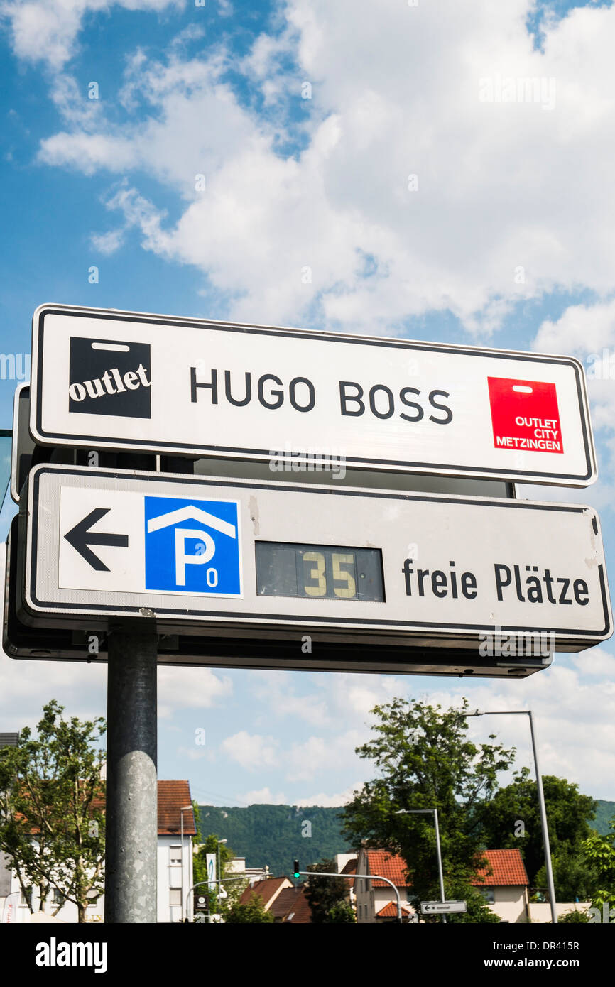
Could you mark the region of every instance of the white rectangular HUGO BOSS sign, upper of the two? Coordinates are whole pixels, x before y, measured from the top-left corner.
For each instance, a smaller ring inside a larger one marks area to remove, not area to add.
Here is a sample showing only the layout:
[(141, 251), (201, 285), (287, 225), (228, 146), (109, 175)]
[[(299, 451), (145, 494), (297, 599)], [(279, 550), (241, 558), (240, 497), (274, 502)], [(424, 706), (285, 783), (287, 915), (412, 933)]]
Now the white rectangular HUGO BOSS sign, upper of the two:
[(31, 432), (138, 449), (585, 487), (580, 363), (475, 346), (45, 305)]

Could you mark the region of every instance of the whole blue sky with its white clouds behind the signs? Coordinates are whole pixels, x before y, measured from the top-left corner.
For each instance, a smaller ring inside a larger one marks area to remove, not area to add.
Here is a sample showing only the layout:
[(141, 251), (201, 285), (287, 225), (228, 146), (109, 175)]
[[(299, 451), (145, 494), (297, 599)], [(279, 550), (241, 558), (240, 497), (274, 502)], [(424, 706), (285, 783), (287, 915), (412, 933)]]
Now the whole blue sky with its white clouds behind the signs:
[[(0, 19), (0, 351), (28, 353), (50, 301), (615, 352), (611, 3), (4, 0)], [(533, 101), (481, 96), (528, 77)], [(613, 378), (589, 381), (599, 482), (519, 492), (596, 506), (611, 572)], [(164, 669), (160, 777), (339, 804), (370, 775), (353, 748), (376, 702), (468, 695), (531, 706), (543, 770), (615, 798), (614, 653), (501, 685)], [(52, 696), (104, 713), (105, 670), (0, 660), (2, 728)], [(516, 718), (499, 726), (528, 761)]]

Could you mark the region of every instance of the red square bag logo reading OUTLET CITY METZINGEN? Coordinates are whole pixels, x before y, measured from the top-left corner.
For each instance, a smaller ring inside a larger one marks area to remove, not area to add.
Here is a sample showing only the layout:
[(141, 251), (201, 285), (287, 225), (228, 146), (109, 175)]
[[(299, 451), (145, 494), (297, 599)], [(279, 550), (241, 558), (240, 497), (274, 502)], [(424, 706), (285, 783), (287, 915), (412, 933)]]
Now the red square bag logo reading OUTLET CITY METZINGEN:
[(564, 452), (555, 384), (488, 377), (497, 449)]

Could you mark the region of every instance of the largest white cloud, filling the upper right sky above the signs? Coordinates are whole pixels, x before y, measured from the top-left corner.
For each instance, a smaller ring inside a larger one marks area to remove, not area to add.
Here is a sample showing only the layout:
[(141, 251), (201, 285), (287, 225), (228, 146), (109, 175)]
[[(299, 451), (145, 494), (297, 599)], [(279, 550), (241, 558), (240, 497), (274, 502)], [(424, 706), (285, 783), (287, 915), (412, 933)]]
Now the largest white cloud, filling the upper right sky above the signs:
[[(540, 51), (525, 27), (530, 6), (289, 0), (278, 34), (243, 62), (275, 116), (240, 106), (222, 81), (230, 50), (185, 62), (138, 52), (124, 98), (145, 114), (73, 125), (42, 142), (40, 159), (86, 174), (146, 168), (184, 198), (181, 218), (161, 220), (164, 235), (143, 246), (201, 270), (231, 298), (232, 318), (296, 323), (320, 311), (333, 328), (395, 333), (411, 315), (449, 309), (491, 332), (545, 291), (606, 297), (615, 7), (553, 19)], [(552, 109), (540, 85), (536, 102), (485, 102), (484, 80), (499, 78), (543, 80), (547, 95), (555, 80)], [(305, 124), (292, 122), (292, 101), (301, 115), (309, 103)], [(276, 142), (293, 127), (305, 146), (284, 156)]]

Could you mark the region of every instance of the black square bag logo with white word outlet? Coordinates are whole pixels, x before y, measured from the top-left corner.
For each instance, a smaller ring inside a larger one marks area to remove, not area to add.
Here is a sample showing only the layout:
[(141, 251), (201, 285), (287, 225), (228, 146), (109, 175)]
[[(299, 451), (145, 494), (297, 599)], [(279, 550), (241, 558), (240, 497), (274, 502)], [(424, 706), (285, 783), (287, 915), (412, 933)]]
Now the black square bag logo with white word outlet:
[(151, 418), (148, 342), (70, 339), (68, 411)]

